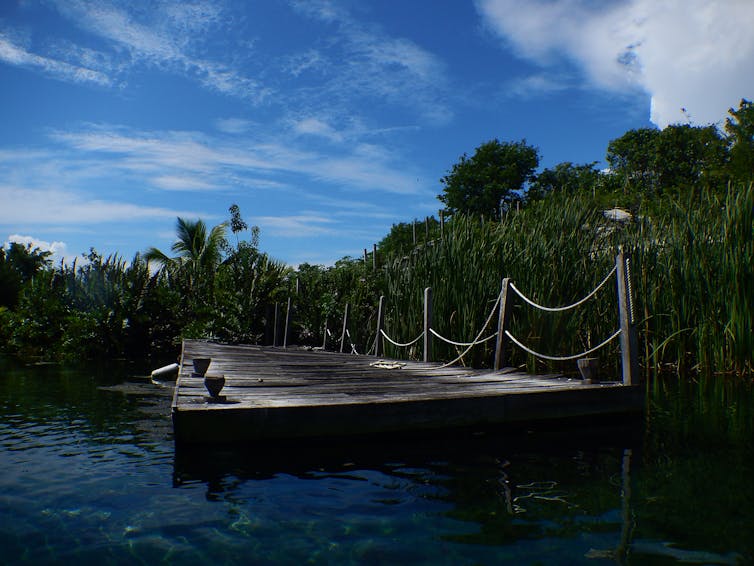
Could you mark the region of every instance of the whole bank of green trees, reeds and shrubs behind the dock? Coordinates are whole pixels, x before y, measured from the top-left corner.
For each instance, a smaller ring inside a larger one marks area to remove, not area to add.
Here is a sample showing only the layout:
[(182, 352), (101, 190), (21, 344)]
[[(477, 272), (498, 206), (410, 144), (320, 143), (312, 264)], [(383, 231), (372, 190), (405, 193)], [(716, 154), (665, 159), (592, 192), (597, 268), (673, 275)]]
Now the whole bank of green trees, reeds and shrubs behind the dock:
[[(484, 142), (441, 178), (438, 218), (395, 224), (371, 252), (331, 266), (270, 257), (235, 204), (217, 226), (179, 218), (169, 253), (150, 248), (128, 261), (92, 249), (55, 265), (49, 252), (11, 243), (0, 250), (0, 345), (44, 359), (164, 359), (182, 338), (272, 344), (286, 333), (288, 344), (339, 348), (348, 310), (346, 351), (367, 353), (380, 297), (384, 328), (409, 342), (422, 329), (426, 287), (433, 327), (466, 342), (490, 317), (503, 277), (540, 304), (568, 304), (602, 281), (622, 249), (642, 371), (750, 378), (754, 105), (742, 100), (722, 129), (629, 131), (605, 159), (605, 170), (561, 163), (537, 172), (539, 151), (525, 140)], [(614, 285), (571, 313), (516, 303), (510, 325), (540, 352), (587, 350), (615, 331)], [(420, 347), (388, 345), (386, 354), (418, 357)], [(477, 346), (459, 363), (489, 366), (493, 349)], [(433, 356), (463, 350), (436, 341)], [(600, 355), (617, 371), (613, 354), (617, 345)], [(516, 348), (509, 361), (573, 369)]]

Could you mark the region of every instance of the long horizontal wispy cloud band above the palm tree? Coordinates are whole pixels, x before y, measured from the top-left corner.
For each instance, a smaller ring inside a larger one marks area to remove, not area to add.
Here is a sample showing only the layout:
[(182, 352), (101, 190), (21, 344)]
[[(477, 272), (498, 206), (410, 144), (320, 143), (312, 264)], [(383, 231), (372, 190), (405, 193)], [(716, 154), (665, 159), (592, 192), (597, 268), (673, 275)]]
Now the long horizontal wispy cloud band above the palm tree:
[(332, 156), (274, 136), (228, 141), (196, 132), (141, 132), (106, 125), (56, 132), (53, 138), (87, 153), (77, 159), (100, 155), (107, 158), (111, 171), (140, 175), (153, 187), (169, 190), (180, 189), (181, 182), (187, 190), (235, 189), (259, 180), (280, 187), (290, 175), (344, 189), (403, 194), (420, 190), (410, 166), (370, 144), (344, 147)]

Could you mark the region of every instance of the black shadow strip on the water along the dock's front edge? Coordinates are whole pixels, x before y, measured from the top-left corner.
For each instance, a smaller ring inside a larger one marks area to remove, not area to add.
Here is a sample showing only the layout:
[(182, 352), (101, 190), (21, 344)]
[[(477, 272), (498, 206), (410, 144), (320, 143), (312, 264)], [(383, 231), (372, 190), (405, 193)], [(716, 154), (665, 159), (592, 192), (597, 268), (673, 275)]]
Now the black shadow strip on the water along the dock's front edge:
[(572, 420), (518, 427), (342, 436), (304, 440), (270, 440), (246, 444), (177, 445), (174, 483), (213, 483), (227, 475), (273, 477), (279, 473), (305, 476), (312, 471), (341, 472), (368, 468), (390, 472), (396, 466), (432, 466), (471, 460), (499, 459), (505, 454), (578, 450), (637, 450), (643, 438), (641, 417)]

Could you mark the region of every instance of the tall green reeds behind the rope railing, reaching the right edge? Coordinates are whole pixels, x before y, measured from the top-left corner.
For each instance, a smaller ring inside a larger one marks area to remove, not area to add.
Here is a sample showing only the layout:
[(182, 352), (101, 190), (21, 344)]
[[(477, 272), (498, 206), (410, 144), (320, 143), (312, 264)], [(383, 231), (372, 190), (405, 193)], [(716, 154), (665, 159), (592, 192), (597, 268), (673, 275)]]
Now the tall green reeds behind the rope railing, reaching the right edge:
[[(432, 287), (433, 327), (448, 338), (470, 341), (494, 305), (503, 277), (540, 304), (569, 304), (602, 280), (622, 246), (632, 257), (645, 371), (671, 367), (750, 375), (753, 214), (754, 189), (748, 185), (723, 196), (701, 192), (661, 208), (648, 205), (625, 224), (606, 219), (585, 196), (551, 195), (499, 223), (457, 216), (442, 239), (385, 266), (387, 331), (398, 341), (417, 336), (423, 290)], [(618, 328), (614, 280), (574, 311), (541, 313), (516, 300), (512, 312), (513, 334), (550, 355), (584, 351)], [(465, 361), (489, 365), (493, 344), (476, 347)], [(407, 353), (388, 350), (414, 356), (420, 351), (421, 343)], [(458, 348), (435, 340), (436, 359), (457, 353)], [(608, 371), (619, 370), (617, 343), (600, 357)], [(530, 370), (575, 369), (573, 362), (536, 361), (515, 346), (511, 360)]]

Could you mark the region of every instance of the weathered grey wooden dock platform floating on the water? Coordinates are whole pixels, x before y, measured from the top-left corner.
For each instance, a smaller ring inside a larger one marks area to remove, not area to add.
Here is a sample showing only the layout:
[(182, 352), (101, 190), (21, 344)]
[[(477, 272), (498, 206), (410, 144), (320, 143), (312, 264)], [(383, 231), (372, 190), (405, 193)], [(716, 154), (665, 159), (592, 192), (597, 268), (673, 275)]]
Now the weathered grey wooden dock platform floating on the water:
[[(225, 375), (209, 397), (194, 358)], [(186, 340), (173, 397), (178, 443), (217, 444), (483, 427), (641, 411), (643, 389), (511, 369), (442, 368), (371, 356)], [(392, 369), (389, 369), (392, 368)]]

